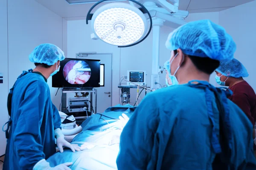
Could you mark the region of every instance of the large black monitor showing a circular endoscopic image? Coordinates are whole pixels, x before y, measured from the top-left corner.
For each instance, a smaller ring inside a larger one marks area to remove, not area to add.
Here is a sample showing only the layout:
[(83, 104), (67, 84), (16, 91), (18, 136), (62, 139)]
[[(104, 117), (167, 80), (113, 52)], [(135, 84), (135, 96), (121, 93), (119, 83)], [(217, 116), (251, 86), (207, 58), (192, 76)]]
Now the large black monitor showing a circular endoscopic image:
[(100, 60), (65, 58), (59, 72), (52, 76), (52, 87), (100, 86)]

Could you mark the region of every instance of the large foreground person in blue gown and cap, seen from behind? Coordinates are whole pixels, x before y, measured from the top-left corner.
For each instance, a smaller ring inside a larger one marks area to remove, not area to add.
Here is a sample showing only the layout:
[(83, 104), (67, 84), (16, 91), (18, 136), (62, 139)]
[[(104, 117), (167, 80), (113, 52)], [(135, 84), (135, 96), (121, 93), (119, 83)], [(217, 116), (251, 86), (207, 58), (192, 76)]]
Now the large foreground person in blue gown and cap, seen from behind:
[(149, 93), (120, 136), (118, 170), (255, 170), (252, 124), (209, 84), (220, 61), (236, 51), (232, 37), (210, 20), (173, 31), (172, 86)]

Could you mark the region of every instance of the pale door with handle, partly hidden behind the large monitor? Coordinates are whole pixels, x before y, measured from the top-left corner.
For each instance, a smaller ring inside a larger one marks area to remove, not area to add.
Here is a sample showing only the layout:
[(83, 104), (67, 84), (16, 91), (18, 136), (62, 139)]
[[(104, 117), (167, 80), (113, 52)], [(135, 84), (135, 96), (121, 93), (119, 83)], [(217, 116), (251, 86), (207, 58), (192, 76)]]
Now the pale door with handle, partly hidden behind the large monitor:
[[(97, 89), (97, 112), (102, 113), (108, 107), (112, 106), (112, 54), (86, 54), (76, 55), (80, 59), (100, 60), (102, 68), (104, 67), (104, 86), (96, 87)], [(102, 84), (102, 82), (101, 82)], [(93, 98), (94, 102), (95, 98)]]

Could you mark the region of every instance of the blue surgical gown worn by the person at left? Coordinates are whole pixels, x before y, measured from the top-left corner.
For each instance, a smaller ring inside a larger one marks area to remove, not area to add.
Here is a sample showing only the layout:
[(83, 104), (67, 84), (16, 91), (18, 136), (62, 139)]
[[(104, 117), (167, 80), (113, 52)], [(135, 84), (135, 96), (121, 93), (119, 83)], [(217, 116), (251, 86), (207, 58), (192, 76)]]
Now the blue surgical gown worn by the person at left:
[(43, 75), (30, 72), (17, 79), (11, 119), (3, 170), (32, 170), (55, 153), (54, 130), (60, 128), (61, 118)]

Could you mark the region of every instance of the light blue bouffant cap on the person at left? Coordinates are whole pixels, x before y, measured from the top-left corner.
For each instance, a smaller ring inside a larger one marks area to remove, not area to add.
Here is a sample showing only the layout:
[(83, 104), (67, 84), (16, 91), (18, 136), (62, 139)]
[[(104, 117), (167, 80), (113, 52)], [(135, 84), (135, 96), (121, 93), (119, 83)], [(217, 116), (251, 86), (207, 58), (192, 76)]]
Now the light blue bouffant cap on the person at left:
[(45, 63), (49, 66), (53, 65), (57, 61), (65, 59), (64, 52), (50, 43), (41, 44), (33, 50), (29, 55), (29, 60), (33, 63)]

